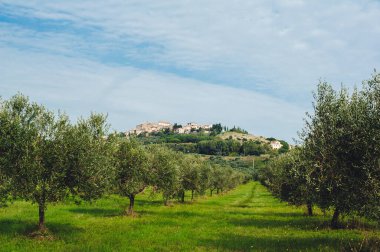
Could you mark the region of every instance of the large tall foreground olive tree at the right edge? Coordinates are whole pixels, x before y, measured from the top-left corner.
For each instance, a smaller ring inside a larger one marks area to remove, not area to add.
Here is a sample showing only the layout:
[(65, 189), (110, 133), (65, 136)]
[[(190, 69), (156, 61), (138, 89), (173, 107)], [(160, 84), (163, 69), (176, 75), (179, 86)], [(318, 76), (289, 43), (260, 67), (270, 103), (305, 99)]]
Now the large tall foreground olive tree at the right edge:
[(320, 83), (314, 114), (301, 134), (316, 201), (322, 209), (333, 209), (332, 227), (341, 214), (358, 212), (379, 195), (378, 86), (350, 94)]

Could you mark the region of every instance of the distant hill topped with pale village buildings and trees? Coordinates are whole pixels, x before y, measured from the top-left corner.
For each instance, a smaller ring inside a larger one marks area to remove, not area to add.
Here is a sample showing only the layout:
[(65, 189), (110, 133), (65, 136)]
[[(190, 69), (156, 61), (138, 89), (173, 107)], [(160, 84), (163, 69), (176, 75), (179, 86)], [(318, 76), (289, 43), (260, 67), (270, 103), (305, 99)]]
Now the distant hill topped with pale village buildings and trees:
[(200, 125), (160, 121), (143, 123), (126, 134), (143, 144), (162, 144), (184, 153), (217, 156), (261, 156), (287, 152), (288, 143), (273, 137), (249, 134), (240, 128), (228, 128), (220, 123)]

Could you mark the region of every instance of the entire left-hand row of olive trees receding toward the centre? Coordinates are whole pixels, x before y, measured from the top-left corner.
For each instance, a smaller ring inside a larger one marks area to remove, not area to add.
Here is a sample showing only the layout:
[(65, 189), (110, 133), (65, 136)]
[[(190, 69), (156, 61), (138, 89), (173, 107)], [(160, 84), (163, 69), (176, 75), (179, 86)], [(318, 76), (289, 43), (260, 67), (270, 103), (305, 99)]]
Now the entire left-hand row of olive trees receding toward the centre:
[(72, 123), (21, 94), (0, 100), (0, 206), (12, 200), (35, 203), (39, 230), (46, 230), (49, 204), (68, 197), (92, 201), (104, 194), (129, 198), (147, 187), (164, 203), (185, 200), (190, 191), (222, 192), (244, 180), (231, 167), (212, 165), (160, 145), (143, 146), (109, 134), (106, 117), (91, 114)]

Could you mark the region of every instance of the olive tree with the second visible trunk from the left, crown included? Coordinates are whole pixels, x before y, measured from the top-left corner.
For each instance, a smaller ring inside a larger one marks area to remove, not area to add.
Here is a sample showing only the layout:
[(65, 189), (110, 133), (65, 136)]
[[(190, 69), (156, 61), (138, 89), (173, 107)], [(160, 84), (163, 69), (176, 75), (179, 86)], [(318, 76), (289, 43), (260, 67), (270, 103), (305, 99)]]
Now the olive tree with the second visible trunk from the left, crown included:
[(148, 155), (136, 141), (123, 140), (116, 152), (116, 189), (129, 198), (125, 214), (133, 214), (135, 196), (142, 192), (150, 182)]

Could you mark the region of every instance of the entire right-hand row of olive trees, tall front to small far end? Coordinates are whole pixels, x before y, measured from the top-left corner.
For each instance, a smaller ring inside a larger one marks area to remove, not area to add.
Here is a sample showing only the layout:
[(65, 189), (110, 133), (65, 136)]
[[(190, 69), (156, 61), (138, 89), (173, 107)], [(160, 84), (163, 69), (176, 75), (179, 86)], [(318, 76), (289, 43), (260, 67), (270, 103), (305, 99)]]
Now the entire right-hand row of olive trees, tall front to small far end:
[(284, 200), (312, 204), (339, 217), (380, 219), (380, 75), (363, 88), (320, 83), (300, 148), (272, 162), (262, 181)]

